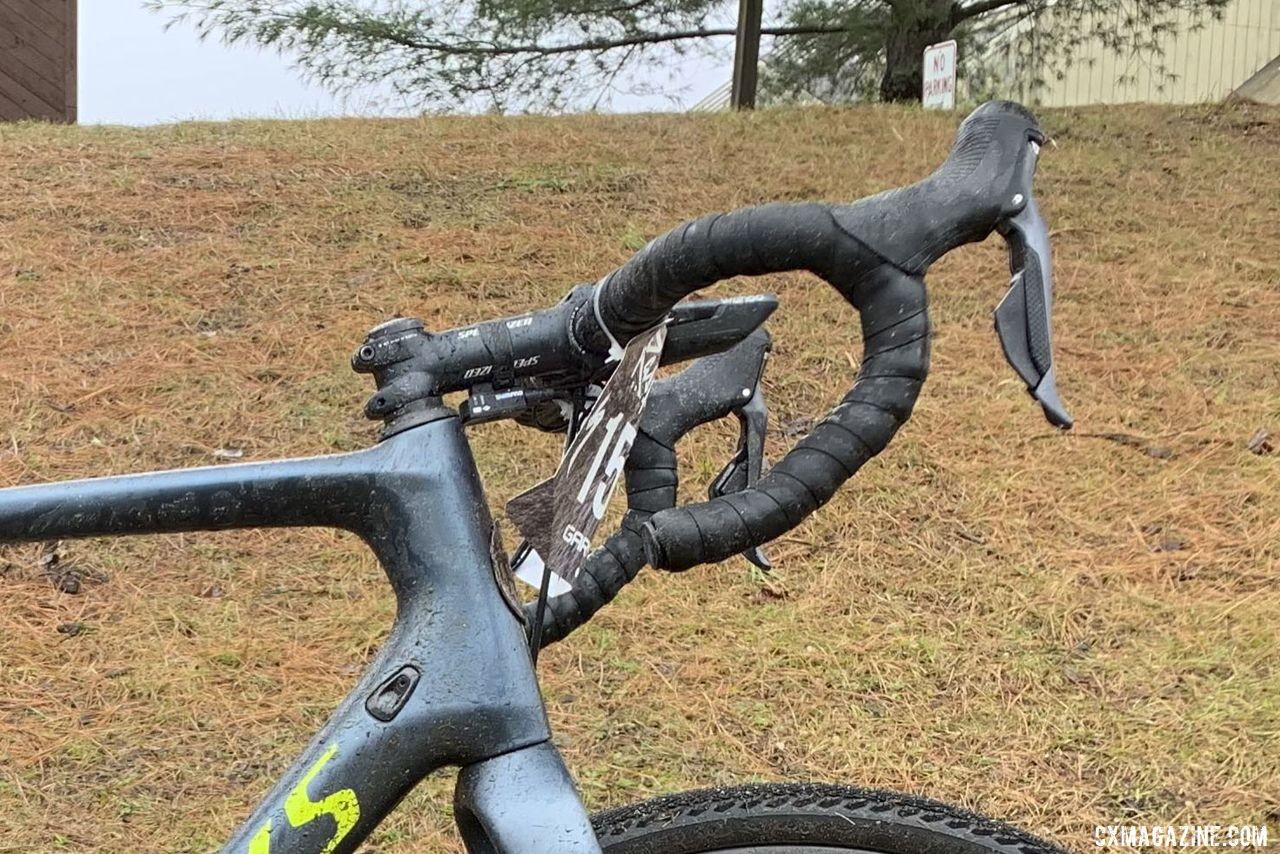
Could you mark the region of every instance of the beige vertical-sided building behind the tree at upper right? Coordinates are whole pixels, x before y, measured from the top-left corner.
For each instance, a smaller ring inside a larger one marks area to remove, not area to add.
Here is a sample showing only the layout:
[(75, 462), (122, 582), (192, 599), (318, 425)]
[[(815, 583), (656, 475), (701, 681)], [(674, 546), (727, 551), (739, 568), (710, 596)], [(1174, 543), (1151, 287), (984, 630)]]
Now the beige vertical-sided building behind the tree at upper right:
[(1094, 41), (1068, 68), (1041, 70), (1038, 85), (1030, 82), (1034, 41), (1025, 27), (996, 38), (984, 64), (998, 93), (1044, 106), (1196, 104), (1231, 93), (1280, 104), (1280, 0), (1234, 0), (1220, 20), (1183, 13), (1180, 23), (1157, 59), (1116, 56)]

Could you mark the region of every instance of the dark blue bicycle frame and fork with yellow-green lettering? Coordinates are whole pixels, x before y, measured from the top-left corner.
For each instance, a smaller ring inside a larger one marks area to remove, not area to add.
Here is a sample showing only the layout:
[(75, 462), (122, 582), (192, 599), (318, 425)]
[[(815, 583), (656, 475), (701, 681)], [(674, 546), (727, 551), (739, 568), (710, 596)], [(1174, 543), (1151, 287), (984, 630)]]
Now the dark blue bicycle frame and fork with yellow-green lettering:
[[(457, 416), (355, 453), (0, 489), (0, 542), (241, 528), (360, 535), (396, 590), (358, 684), (223, 849), (344, 854), (430, 772), (460, 766), (474, 854), (599, 854), (559, 753)], [(388, 718), (388, 720), (381, 720)]]

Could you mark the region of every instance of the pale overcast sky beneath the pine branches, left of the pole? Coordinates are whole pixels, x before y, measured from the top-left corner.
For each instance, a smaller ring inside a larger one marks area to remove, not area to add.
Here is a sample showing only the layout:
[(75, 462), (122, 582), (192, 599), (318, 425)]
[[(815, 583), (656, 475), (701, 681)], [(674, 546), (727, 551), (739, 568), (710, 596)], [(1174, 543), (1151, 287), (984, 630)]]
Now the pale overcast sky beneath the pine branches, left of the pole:
[[(287, 58), (253, 47), (201, 42), (189, 27), (164, 28), (142, 0), (79, 4), (79, 119), (155, 124), (183, 119), (306, 118), (396, 114), (404, 104), (343, 102), (300, 79)], [(731, 40), (730, 40), (731, 41)], [(690, 58), (676, 70), (676, 104), (618, 96), (612, 109), (672, 110), (696, 102), (730, 77), (730, 59)], [(667, 86), (667, 81), (653, 81)]]

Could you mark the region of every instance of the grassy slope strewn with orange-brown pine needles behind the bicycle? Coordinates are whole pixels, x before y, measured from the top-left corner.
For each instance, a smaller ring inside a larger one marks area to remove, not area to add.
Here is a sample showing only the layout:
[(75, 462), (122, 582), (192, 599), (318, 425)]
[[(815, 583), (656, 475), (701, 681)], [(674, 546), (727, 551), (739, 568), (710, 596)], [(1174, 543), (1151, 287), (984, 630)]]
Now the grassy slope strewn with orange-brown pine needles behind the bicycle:
[[(1082, 849), (1116, 819), (1280, 823), (1280, 456), (1245, 449), (1280, 431), (1280, 113), (1044, 119), (1076, 434), (1051, 434), (1002, 364), (1001, 247), (938, 264), (915, 419), (774, 545), (778, 577), (646, 574), (545, 657), (594, 807), (822, 778)], [(364, 446), (347, 356), (388, 315), (547, 305), (695, 214), (911, 181), (954, 125), (856, 109), (0, 127), (0, 483)], [(824, 410), (859, 353), (852, 315), (805, 277), (735, 289), (751, 287), (785, 297), (776, 424)], [(690, 480), (730, 446), (727, 428), (692, 437)], [(554, 447), (477, 430), (494, 503)], [(0, 558), (0, 850), (215, 848), (390, 612), (375, 563), (328, 531), (64, 553), (74, 595), (35, 548)], [(453, 850), (447, 790), (415, 793), (376, 850)]]

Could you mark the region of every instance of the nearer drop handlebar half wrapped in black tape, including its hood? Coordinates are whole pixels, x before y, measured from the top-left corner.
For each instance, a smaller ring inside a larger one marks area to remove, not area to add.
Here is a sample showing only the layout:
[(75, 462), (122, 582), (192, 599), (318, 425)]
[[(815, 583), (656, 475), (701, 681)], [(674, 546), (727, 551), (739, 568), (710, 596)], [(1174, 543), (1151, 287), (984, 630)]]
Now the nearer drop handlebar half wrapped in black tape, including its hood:
[[(684, 570), (722, 561), (795, 528), (831, 499), (910, 417), (929, 369), (923, 274), (984, 239), (1025, 198), (1020, 164), (1044, 137), (1010, 102), (974, 110), (942, 164), (923, 181), (852, 205), (765, 205), (716, 214), (657, 238), (599, 286), (596, 306), (618, 341), (658, 323), (690, 293), (735, 275), (808, 270), (859, 312), (864, 359), (852, 389), (753, 489), (663, 510), (643, 529), (645, 560)], [(596, 312), (573, 319), (600, 348)]]

